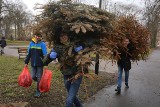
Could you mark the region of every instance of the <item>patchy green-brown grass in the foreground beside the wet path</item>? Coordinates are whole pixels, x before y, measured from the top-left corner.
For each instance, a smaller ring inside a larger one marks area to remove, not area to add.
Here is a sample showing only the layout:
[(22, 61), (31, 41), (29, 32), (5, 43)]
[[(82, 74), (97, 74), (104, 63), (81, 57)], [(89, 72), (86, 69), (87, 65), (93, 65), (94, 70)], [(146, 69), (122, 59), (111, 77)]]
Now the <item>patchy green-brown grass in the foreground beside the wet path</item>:
[[(0, 104), (28, 102), (26, 107), (64, 107), (67, 93), (62, 74), (57, 67), (52, 64), (48, 67), (53, 71), (50, 91), (42, 93), (40, 98), (34, 98), (36, 89), (34, 81), (29, 88), (20, 87), (17, 83), (18, 76), (24, 67), (23, 60), (10, 56), (0, 56)], [(115, 84), (115, 81), (115, 74), (104, 72), (100, 72), (98, 78), (94, 80), (83, 78), (78, 93), (80, 100), (85, 102), (87, 94), (90, 97), (104, 86)], [(87, 89), (85, 89), (85, 86)]]

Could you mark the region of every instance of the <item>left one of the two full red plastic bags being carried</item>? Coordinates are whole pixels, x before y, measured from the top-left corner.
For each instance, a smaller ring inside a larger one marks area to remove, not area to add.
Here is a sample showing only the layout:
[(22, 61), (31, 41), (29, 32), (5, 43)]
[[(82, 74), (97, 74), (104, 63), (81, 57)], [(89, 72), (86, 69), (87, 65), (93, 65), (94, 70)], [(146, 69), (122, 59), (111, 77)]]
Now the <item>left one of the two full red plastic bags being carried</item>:
[(28, 70), (28, 67), (24, 67), (23, 71), (21, 72), (21, 74), (18, 77), (18, 84), (19, 86), (28, 88), (29, 86), (31, 86), (32, 84), (32, 78), (30, 75), (30, 72)]

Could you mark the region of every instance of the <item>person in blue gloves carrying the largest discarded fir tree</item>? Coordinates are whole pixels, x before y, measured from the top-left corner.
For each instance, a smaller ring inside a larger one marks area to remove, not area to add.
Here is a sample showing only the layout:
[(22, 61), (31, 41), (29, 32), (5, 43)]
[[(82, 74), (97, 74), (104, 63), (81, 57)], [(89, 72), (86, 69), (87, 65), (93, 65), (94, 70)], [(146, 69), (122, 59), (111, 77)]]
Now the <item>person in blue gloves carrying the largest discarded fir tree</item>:
[[(72, 80), (72, 78), (82, 72), (82, 66), (77, 66), (72, 55), (76, 55), (79, 51), (84, 49), (83, 45), (74, 46), (70, 43), (70, 38), (66, 33), (60, 33), (58, 36), (59, 45), (56, 45), (54, 49), (47, 55), (44, 60), (44, 65), (47, 66), (52, 60), (58, 59), (60, 63), (60, 71), (63, 74), (64, 85), (68, 92), (66, 98), (65, 107), (73, 107), (73, 104), (76, 107), (82, 107), (81, 102), (77, 98), (77, 93), (82, 82), (82, 76), (80, 76), (76, 80)], [(72, 55), (69, 56), (70, 47), (75, 47), (72, 50)]]

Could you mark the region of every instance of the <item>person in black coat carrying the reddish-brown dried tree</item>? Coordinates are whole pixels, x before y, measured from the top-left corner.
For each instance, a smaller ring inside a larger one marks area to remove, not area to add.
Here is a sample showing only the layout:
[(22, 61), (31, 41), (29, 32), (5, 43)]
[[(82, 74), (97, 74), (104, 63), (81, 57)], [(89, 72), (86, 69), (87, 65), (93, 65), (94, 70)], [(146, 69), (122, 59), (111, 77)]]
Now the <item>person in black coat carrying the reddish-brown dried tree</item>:
[(128, 79), (129, 79), (129, 70), (131, 69), (131, 61), (130, 60), (131, 60), (132, 51), (133, 51), (132, 44), (130, 44), (130, 41), (128, 38), (124, 39), (123, 45), (124, 45), (124, 47), (121, 47), (121, 48), (119, 47), (119, 49), (118, 49), (118, 54), (120, 56), (120, 58), (117, 61), (117, 65), (118, 65), (117, 84), (118, 84), (118, 86), (115, 89), (115, 91), (117, 91), (118, 94), (121, 93), (123, 70), (125, 72), (125, 86), (126, 86), (126, 88), (129, 88)]

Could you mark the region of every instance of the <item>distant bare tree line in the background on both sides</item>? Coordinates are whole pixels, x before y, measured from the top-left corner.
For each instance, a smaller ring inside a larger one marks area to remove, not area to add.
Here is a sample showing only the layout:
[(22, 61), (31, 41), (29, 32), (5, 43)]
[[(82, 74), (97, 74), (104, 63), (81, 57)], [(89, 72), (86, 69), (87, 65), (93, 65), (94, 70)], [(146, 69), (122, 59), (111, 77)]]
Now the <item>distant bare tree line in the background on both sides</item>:
[[(87, 2), (87, 0), (70, 1)], [(144, 8), (138, 8), (134, 4), (125, 5), (120, 2), (113, 4), (110, 0), (99, 0), (97, 3), (101, 9), (112, 12), (117, 16), (132, 14), (138, 17), (140, 23), (145, 24), (151, 33), (151, 46), (156, 46), (157, 32), (160, 27), (160, 0), (145, 0)], [(15, 39), (19, 39), (32, 35), (32, 26), (38, 19), (34, 19), (33, 14), (26, 9), (26, 5), (20, 0), (14, 2), (12, 0), (0, 0), (0, 36), (10, 38), (12, 35)]]

